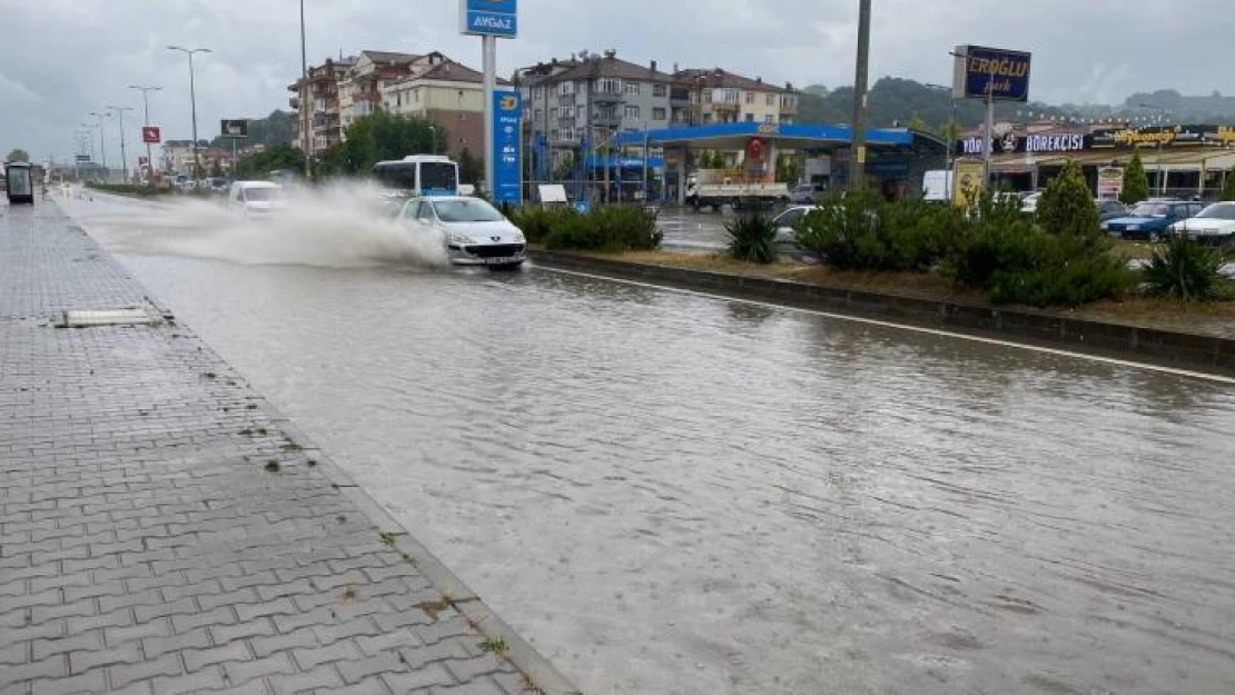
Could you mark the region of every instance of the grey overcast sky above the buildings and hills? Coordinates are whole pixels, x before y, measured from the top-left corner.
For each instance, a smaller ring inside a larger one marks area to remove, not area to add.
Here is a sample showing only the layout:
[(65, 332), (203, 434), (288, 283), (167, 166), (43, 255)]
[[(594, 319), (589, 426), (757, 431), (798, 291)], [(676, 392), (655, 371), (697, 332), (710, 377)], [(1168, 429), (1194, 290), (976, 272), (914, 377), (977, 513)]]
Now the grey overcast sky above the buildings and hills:
[[(1034, 52), (1030, 96), (1118, 102), (1176, 88), (1235, 93), (1230, 0), (874, 0), (872, 81), (948, 83), (958, 43)], [(309, 62), (387, 49), (438, 49), (479, 68), (480, 42), (458, 35), (457, 0), (305, 0)], [(522, 0), (521, 36), (499, 43), (499, 69), (616, 48), (662, 69), (724, 67), (794, 85), (852, 84), (857, 0)], [(200, 137), (224, 117), (288, 109), (300, 73), (299, 0), (0, 0), (0, 156), (73, 154), (73, 131), (107, 105), (125, 115), (136, 157), (141, 95), (161, 85), (151, 120), (190, 135), (189, 72), (168, 44), (209, 47), (196, 64)], [(95, 141), (98, 137), (95, 136)], [(107, 154), (120, 135), (107, 126)]]

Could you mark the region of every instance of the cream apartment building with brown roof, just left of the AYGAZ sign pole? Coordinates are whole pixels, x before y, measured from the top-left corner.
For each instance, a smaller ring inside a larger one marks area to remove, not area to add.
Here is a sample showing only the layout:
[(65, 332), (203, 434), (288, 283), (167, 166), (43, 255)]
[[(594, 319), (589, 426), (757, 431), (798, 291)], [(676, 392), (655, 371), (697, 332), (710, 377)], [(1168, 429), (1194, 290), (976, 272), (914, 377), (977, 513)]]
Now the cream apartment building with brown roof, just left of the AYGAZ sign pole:
[[(382, 89), (383, 107), (395, 115), (425, 119), (438, 128), (446, 151), (484, 157), (484, 75), (441, 53), (411, 63), (410, 73)], [(509, 80), (499, 79), (506, 89)]]

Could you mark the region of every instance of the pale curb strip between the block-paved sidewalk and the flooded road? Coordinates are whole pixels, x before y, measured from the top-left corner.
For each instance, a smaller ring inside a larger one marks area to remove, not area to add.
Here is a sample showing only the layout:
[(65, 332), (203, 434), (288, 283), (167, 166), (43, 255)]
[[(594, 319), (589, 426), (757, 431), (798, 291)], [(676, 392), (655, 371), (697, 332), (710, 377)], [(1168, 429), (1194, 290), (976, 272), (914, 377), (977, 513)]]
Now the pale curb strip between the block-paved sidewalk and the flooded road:
[[(89, 232), (82, 228), (80, 225), (77, 225), (69, 215), (64, 214), (63, 209), (61, 209), (61, 214), (68, 222), (67, 230), (69, 232), (77, 232), (90, 237), (91, 242), (99, 248), (100, 258), (106, 258), (110, 263), (115, 263), (124, 268), (110, 251), (99, 244), (99, 242), (95, 241)], [(127, 274), (126, 269), (126, 275)], [(437, 556), (425, 547), (424, 543), (417, 541), (411, 532), (408, 531), (408, 528), (393, 515), (390, 515), (390, 512), (388, 512), (375, 499), (373, 499), (368, 491), (357, 485), (351, 474), (343, 470), (343, 468), (340, 467), (332, 457), (316, 446), (312, 439), (304, 433), (304, 431), (293, 425), (291, 420), (270, 404), (266, 396), (258, 393), (257, 389), (249, 384), (248, 379), (224, 360), (222, 357), (220, 357), (219, 353), (215, 352), (214, 348), (211, 348), (191, 328), (180, 323), (172, 310), (154, 298), (141, 281), (132, 278), (132, 283), (142, 289), (142, 298), (164, 320), (163, 326), (172, 326), (183, 337), (191, 338), (198, 342), (203, 352), (209, 354), (220, 365), (225, 367), (230, 372), (227, 378), (235, 380), (238, 386), (242, 386), (252, 394), (253, 405), (257, 406), (259, 412), (269, 418), (272, 430), (283, 435), (290, 442), (299, 444), (301, 447), (301, 454), (316, 460), (316, 470), (321, 473), (330, 485), (348, 497), (358, 507), (358, 511), (363, 514), (378, 531), (391, 535), (394, 541), (391, 546), (398, 552), (414, 558), (416, 570), (419, 570), (437, 591), (446, 596), (447, 600), (461, 614), (463, 614), (463, 616), (478, 632), (489, 639), (500, 639), (505, 642), (506, 653), (504, 654), (504, 658), (522, 672), (531, 684), (535, 684), (534, 689), (532, 686), (529, 686), (526, 691), (538, 693), (542, 695), (582, 695), (582, 690), (574, 686), (548, 659), (537, 652), (531, 643), (516, 633), (506, 621), (501, 620), (501, 617), (485, 605), (484, 601), (477, 596), (475, 591), (468, 588), (467, 584), (464, 584), (458, 575), (446, 567), (446, 564), (442, 563)]]

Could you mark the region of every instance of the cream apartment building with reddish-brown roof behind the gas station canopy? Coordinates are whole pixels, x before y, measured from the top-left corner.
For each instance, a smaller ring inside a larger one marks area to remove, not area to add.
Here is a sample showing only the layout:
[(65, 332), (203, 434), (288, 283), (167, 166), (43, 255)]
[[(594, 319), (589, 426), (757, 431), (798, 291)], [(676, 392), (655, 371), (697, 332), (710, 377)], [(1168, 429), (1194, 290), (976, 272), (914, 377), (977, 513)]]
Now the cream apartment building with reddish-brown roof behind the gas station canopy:
[(792, 84), (778, 86), (720, 68), (674, 70), (672, 110), (673, 125), (792, 123), (798, 94)]

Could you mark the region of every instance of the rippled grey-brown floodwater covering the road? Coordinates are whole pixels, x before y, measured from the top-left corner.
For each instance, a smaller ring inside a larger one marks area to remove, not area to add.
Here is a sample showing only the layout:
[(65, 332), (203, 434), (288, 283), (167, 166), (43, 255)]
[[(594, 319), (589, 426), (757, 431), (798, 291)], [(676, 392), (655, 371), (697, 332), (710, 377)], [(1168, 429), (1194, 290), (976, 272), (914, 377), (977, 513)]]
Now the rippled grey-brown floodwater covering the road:
[(72, 210), (589, 694), (1235, 691), (1229, 383)]

